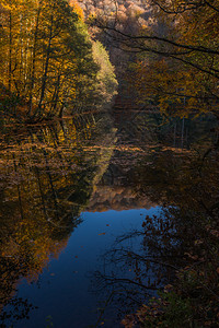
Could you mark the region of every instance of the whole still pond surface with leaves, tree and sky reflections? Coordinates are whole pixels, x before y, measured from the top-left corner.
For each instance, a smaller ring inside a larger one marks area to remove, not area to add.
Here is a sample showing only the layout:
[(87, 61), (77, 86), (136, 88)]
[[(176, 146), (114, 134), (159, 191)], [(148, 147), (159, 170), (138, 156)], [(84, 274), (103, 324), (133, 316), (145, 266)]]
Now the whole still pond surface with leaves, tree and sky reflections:
[(120, 327), (172, 281), (199, 222), (217, 232), (216, 127), (136, 113), (5, 127), (2, 327)]

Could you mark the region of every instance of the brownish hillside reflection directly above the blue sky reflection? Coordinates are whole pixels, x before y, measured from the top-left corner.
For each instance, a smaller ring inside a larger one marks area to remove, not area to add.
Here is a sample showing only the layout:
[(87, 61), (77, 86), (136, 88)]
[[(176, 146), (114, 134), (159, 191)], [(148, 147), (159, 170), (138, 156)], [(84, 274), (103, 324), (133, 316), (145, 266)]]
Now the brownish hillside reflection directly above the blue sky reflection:
[(124, 211), (150, 209), (155, 206), (150, 201), (149, 197), (139, 197), (134, 187), (132, 173), (135, 172), (137, 159), (142, 153), (140, 151), (136, 153), (136, 148), (126, 147), (125, 149), (126, 152), (124, 151), (123, 153), (115, 150), (107, 171), (93, 190), (87, 211)]

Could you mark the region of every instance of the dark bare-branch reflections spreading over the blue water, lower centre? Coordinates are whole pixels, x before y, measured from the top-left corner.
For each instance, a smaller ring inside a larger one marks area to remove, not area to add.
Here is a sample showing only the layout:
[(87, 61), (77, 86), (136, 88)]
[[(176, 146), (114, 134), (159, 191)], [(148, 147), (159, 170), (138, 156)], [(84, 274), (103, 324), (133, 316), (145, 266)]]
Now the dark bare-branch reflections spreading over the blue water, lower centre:
[[(158, 218), (153, 218), (151, 222), (155, 224)], [(100, 309), (101, 320), (107, 323), (111, 307), (114, 308), (118, 319), (135, 312), (157, 294), (176, 268), (175, 265), (168, 262), (172, 254), (164, 257), (147, 243), (145, 224), (146, 222), (142, 223), (142, 230), (130, 231), (117, 237), (113, 247), (103, 255), (103, 269), (94, 272), (93, 290), (106, 301), (110, 297), (110, 302), (106, 302), (110, 304)], [(151, 239), (154, 241), (152, 235)]]

